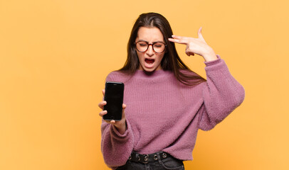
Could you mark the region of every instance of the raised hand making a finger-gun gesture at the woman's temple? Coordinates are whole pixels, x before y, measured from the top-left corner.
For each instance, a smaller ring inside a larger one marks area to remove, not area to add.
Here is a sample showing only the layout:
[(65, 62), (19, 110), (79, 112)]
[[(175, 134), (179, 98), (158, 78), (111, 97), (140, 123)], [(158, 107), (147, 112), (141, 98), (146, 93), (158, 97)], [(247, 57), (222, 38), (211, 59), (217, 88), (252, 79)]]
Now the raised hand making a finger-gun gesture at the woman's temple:
[(206, 43), (203, 35), (201, 35), (201, 28), (199, 28), (198, 35), (199, 38), (172, 35), (169, 41), (186, 45), (186, 55), (188, 56), (194, 54), (201, 55), (206, 62), (216, 60), (217, 57), (214, 50)]

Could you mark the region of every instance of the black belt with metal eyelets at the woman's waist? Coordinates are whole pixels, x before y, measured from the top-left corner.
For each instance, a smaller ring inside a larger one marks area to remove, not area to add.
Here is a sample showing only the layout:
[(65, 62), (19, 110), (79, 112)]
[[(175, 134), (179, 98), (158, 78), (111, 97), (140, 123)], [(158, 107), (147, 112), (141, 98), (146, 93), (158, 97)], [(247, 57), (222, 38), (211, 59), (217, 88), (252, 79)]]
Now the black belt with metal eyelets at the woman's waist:
[(132, 152), (128, 160), (131, 162), (141, 162), (141, 163), (147, 164), (149, 162), (155, 162), (159, 159), (164, 159), (167, 157), (172, 157), (172, 156), (166, 152), (156, 152), (154, 154), (137, 154), (135, 152)]

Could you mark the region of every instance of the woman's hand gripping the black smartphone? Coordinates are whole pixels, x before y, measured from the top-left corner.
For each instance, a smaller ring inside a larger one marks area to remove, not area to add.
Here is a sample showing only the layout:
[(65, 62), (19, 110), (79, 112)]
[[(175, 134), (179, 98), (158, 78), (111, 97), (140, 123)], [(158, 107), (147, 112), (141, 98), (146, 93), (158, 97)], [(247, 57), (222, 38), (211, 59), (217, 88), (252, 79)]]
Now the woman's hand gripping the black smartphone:
[[(105, 90), (103, 89), (103, 96), (105, 96)], [(101, 110), (103, 110), (103, 106), (106, 105), (106, 101), (101, 101), (98, 104), (98, 107), (101, 108)], [(120, 134), (124, 134), (125, 130), (127, 129), (127, 125), (125, 123), (125, 108), (127, 106), (122, 103), (122, 120), (120, 121), (115, 121), (115, 120), (104, 120), (106, 123), (110, 123), (111, 125), (114, 125), (115, 128), (117, 128), (118, 132), (120, 132)], [(107, 114), (107, 111), (100, 111), (99, 115), (100, 117), (103, 118), (103, 115)]]

